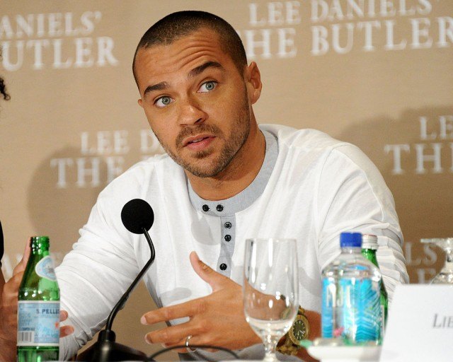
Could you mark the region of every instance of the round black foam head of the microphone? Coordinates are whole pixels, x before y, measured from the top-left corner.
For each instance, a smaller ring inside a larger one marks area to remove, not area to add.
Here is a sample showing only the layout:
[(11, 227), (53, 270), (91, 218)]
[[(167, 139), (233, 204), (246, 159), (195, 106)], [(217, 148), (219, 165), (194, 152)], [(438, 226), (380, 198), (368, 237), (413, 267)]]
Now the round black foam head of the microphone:
[(131, 233), (142, 234), (143, 228), (148, 231), (153, 226), (154, 211), (146, 201), (132, 199), (122, 206), (121, 221)]

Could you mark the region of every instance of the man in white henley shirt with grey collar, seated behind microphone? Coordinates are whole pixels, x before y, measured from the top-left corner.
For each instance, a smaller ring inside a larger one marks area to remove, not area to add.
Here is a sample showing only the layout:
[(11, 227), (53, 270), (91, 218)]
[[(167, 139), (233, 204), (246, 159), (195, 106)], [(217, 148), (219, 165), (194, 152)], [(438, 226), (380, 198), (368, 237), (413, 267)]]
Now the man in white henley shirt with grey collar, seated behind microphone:
[[(147, 200), (156, 215), (156, 261), (144, 282), (161, 308), (142, 323), (168, 322), (147, 334), (149, 343), (262, 356), (243, 315), (243, 244), (250, 237), (297, 238), (299, 303), (310, 339), (320, 334), (321, 269), (338, 255), (341, 232), (379, 236), (390, 294), (407, 281), (393, 199), (377, 169), (354, 146), (321, 132), (258, 127), (252, 105), (260, 71), (247, 64), (231, 25), (210, 13), (173, 13), (144, 34), (133, 71), (139, 105), (167, 154), (134, 165), (101, 192), (57, 268), (62, 309), (75, 329), (62, 339), (64, 357), (103, 327), (149, 258), (147, 244), (120, 221), (134, 198)], [(303, 349), (297, 356), (309, 358)]]

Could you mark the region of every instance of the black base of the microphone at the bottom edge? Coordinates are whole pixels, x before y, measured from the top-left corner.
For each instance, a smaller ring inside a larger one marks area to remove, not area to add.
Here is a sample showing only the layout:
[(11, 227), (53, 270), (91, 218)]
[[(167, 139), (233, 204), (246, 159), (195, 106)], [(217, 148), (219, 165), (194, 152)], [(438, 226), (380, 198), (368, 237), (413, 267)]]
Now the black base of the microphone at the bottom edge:
[(113, 331), (101, 331), (98, 341), (77, 356), (76, 361), (117, 362), (146, 361), (147, 355), (142, 351), (115, 342)]

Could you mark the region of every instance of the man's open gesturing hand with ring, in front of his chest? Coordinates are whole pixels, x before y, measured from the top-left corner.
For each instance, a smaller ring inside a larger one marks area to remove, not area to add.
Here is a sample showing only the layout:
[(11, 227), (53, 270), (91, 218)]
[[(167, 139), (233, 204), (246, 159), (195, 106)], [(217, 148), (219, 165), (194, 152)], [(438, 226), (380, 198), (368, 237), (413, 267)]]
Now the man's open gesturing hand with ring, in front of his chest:
[[(246, 322), (242, 287), (208, 267), (195, 252), (190, 253), (190, 263), (200, 278), (210, 284), (212, 293), (145, 313), (141, 319), (144, 325), (189, 317), (188, 322), (149, 332), (146, 341), (176, 346), (184, 345), (187, 337), (192, 336), (190, 345), (209, 344), (228, 349), (243, 349), (261, 343)], [(187, 352), (186, 349), (178, 351)]]

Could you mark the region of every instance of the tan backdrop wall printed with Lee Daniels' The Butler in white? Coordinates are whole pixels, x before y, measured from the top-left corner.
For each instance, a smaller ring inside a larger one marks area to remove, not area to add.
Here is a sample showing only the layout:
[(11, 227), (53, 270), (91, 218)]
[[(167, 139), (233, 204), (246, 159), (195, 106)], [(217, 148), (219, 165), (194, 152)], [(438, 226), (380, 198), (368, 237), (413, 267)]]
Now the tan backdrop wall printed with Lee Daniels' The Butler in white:
[[(1, 1), (6, 278), (30, 235), (50, 235), (61, 260), (101, 189), (163, 152), (132, 57), (152, 23), (187, 9), (238, 31), (263, 78), (258, 122), (320, 129), (367, 153), (394, 194), (411, 282), (430, 281), (445, 256), (420, 238), (453, 237), (451, 0)], [(144, 288), (130, 302), (118, 341), (150, 351), (139, 317), (154, 304)]]

